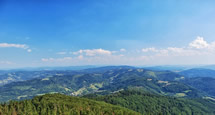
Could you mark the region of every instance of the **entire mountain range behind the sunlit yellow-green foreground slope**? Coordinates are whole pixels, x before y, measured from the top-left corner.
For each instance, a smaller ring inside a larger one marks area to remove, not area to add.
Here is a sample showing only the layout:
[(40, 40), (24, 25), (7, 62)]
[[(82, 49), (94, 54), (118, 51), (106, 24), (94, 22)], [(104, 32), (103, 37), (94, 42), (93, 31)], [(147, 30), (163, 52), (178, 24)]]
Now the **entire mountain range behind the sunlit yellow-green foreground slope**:
[[(60, 93), (104, 101), (136, 111), (138, 114), (177, 112), (213, 114), (214, 71), (194, 68), (174, 72), (130, 66), (105, 66), (83, 70), (10, 71), (8, 73), (3, 71), (0, 79), (8, 77), (19, 79), (0, 86), (0, 102), (16, 100), (14, 103), (19, 105), (25, 102), (20, 100), (32, 98), (34, 100), (35, 97), (43, 97), (46, 94), (52, 97)], [(29, 100), (30, 102), (32, 100)], [(5, 109), (0, 109), (1, 111)], [(13, 110), (10, 111), (13, 112)], [(20, 112), (23, 111), (20, 110)]]

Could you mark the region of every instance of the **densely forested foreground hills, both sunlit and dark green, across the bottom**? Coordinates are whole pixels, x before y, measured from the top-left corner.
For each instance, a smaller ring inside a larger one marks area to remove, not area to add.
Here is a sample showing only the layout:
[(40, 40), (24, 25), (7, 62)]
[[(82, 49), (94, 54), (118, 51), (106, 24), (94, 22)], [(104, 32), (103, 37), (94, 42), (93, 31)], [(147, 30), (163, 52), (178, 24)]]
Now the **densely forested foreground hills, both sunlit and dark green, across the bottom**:
[[(88, 99), (87, 99), (88, 98)], [(73, 97), (46, 94), (0, 105), (0, 115), (214, 115), (215, 102), (125, 90), (110, 95)]]

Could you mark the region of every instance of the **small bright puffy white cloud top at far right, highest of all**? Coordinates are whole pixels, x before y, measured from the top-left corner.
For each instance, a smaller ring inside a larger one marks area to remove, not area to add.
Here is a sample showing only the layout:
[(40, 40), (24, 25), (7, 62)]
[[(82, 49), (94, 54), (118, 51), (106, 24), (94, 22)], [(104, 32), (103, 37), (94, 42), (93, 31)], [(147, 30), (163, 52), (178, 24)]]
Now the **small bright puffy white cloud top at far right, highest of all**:
[(207, 41), (204, 40), (203, 37), (197, 37), (194, 41), (192, 41), (189, 46), (191, 48), (197, 48), (197, 49), (202, 49), (202, 48), (208, 48), (209, 44)]

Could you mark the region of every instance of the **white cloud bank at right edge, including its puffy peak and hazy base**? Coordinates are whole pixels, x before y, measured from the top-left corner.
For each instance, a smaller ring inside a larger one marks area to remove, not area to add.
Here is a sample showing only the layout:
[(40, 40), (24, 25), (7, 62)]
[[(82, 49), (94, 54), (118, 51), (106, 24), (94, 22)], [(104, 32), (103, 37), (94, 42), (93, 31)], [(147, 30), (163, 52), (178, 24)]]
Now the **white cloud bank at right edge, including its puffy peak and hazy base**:
[[(215, 42), (207, 42), (197, 37), (188, 46), (166, 48), (143, 48), (139, 57), (145, 64), (214, 64)], [(146, 61), (147, 59), (147, 61)], [(137, 60), (137, 59), (136, 59)]]

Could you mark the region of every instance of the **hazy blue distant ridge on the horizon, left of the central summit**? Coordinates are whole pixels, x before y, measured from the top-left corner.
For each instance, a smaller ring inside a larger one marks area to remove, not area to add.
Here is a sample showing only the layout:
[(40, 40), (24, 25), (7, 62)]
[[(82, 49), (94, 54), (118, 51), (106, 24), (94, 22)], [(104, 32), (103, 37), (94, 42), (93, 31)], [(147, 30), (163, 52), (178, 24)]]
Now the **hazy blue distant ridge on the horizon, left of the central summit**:
[(11, 82), (26, 81), (34, 78), (50, 77), (55, 74), (71, 74), (73, 71), (82, 73), (104, 72), (114, 68), (134, 68), (131, 66), (69, 66), (69, 67), (42, 67), (0, 70), (0, 86)]

